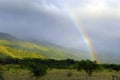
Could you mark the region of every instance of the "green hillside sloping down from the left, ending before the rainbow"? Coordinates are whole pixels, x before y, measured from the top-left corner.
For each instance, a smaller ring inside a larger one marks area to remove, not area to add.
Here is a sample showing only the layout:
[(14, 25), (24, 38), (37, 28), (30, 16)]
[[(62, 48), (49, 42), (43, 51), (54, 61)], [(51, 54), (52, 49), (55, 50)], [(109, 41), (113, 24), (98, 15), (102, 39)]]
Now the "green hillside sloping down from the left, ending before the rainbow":
[(0, 33), (0, 58), (51, 58), (66, 59), (78, 58), (69, 52), (52, 45), (38, 45), (32, 42), (19, 40), (16, 37)]

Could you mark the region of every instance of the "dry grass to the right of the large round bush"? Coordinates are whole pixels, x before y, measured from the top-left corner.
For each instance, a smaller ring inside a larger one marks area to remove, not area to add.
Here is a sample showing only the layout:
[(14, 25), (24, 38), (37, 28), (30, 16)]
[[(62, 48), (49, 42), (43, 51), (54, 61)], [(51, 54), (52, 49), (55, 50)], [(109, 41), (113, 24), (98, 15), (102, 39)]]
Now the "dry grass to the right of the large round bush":
[[(72, 76), (67, 76), (68, 73), (72, 73)], [(88, 80), (112, 80), (112, 75), (117, 75), (120, 77), (120, 72), (94, 72), (91, 77), (88, 77)], [(78, 72), (76, 70), (52, 70), (42, 78), (43, 80), (85, 80), (86, 73), (84, 71)]]

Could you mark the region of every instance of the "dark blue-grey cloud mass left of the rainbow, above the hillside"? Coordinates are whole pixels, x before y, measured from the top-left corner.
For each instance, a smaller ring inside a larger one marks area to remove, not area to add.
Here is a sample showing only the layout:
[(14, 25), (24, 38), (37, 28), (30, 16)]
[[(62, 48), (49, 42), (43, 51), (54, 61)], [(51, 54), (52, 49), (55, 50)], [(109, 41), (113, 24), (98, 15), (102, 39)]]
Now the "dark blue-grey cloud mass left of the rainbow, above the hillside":
[(59, 7), (46, 1), (0, 1), (0, 31), (21, 38), (74, 45), (73, 40), (77, 40), (79, 35), (73, 24)]

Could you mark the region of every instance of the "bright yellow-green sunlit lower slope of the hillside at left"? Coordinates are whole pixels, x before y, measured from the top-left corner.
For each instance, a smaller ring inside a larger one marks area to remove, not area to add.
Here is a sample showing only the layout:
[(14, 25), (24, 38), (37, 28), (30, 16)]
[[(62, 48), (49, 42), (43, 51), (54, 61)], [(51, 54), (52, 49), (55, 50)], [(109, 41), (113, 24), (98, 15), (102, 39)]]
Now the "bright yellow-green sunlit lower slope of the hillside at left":
[(6, 40), (0, 40), (0, 58), (41, 58), (44, 59), (43, 55), (40, 55), (35, 52), (30, 52), (27, 50), (23, 50), (20, 48), (12, 47), (14, 46), (14, 42), (9, 42)]

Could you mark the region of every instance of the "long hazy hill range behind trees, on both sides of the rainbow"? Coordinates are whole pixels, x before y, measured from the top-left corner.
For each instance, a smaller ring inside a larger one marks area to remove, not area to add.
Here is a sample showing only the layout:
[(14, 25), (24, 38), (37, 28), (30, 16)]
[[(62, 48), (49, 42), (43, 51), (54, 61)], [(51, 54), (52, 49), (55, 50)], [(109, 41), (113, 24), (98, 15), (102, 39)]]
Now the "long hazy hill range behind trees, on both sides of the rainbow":
[[(120, 63), (119, 56), (101, 52), (97, 55), (102, 63)], [(108, 57), (109, 56), (109, 57)], [(40, 59), (90, 59), (87, 52), (61, 47), (36, 40), (21, 40), (7, 33), (0, 33), (0, 58), (40, 58)]]

